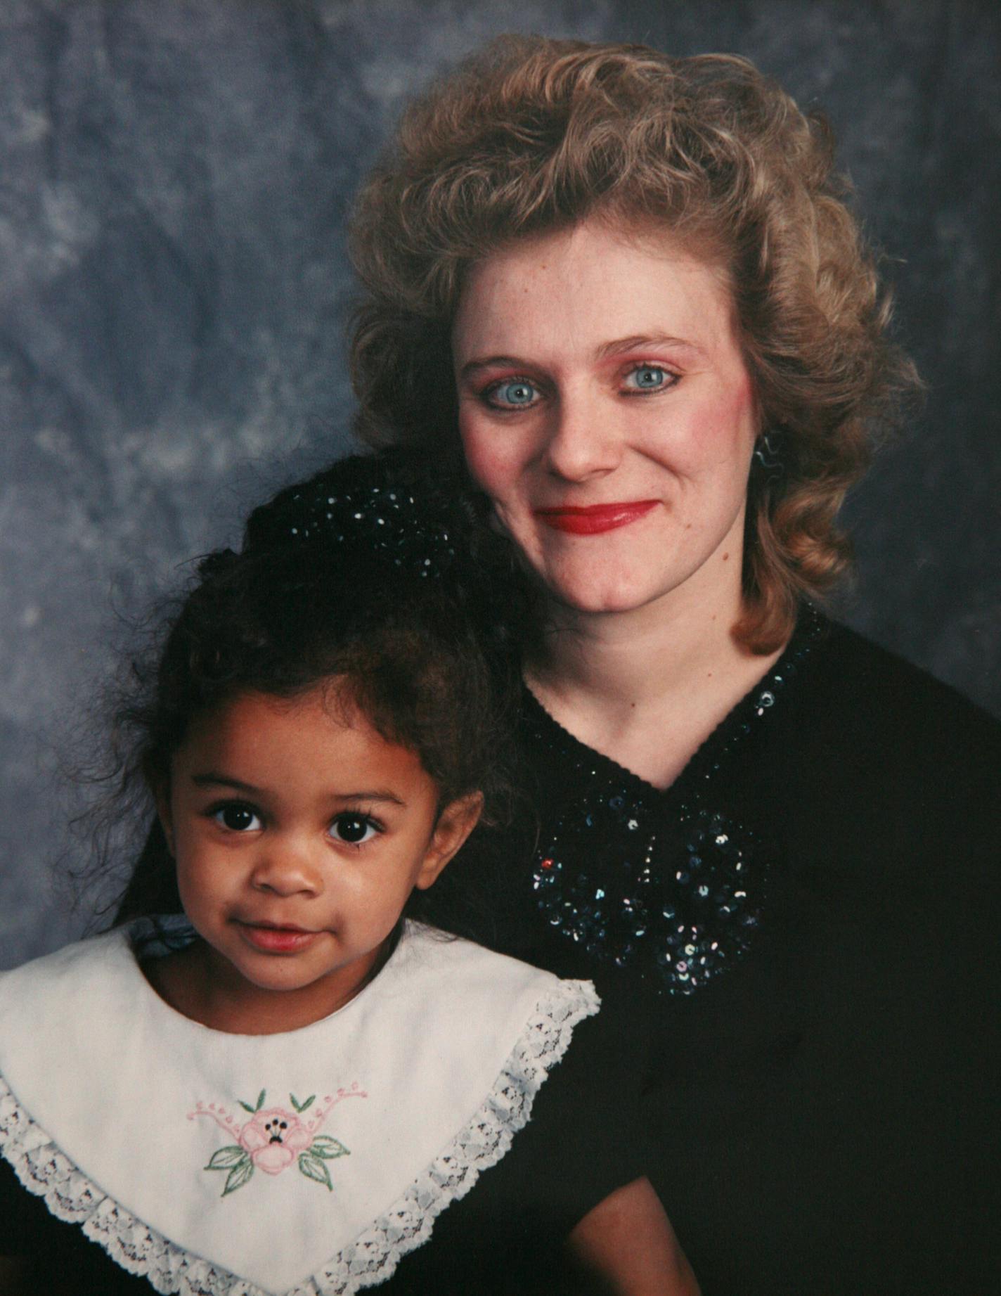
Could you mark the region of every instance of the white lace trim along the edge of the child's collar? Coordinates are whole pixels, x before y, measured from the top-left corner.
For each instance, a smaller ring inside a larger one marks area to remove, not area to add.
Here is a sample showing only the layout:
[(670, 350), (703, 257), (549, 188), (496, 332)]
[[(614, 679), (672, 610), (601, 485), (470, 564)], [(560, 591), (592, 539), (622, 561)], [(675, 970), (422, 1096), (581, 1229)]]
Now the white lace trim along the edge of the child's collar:
[[(483, 1105), (403, 1196), (304, 1284), (285, 1296), (352, 1296), (385, 1282), (422, 1245), (438, 1216), (496, 1165), (528, 1124), (535, 1095), (566, 1052), (575, 1026), (598, 1011), (589, 981), (562, 981), (536, 1004)], [(52, 1214), (78, 1223), (131, 1274), (179, 1296), (271, 1296), (192, 1256), (92, 1183), (18, 1104), (0, 1077), (0, 1151)]]

